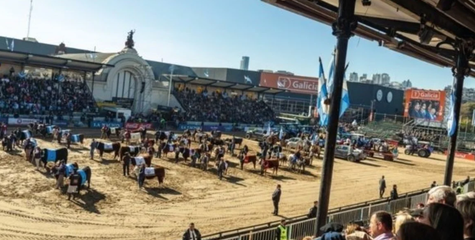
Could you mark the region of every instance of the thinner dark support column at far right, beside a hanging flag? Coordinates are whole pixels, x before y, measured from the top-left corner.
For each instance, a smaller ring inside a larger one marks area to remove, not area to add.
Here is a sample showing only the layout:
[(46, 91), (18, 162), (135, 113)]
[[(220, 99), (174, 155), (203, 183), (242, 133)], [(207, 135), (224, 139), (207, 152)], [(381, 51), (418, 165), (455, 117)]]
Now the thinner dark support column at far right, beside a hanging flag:
[[(447, 44), (447, 43), (446, 43)], [(437, 47), (439, 47), (439, 44)], [(452, 73), (454, 75), (453, 89), (455, 95), (454, 103), (454, 119), (453, 121), (458, 124), (455, 128), (455, 132), (449, 139), (449, 149), (447, 154), (447, 161), (445, 162), (445, 175), (443, 178), (443, 184), (447, 186), (452, 186), (452, 174), (454, 170), (454, 158), (457, 151), (457, 137), (458, 130), (460, 125), (460, 106), (462, 104), (462, 90), (463, 90), (463, 80), (465, 76), (468, 76), (470, 73), (469, 60), (474, 57), (474, 43), (466, 42), (463, 40), (457, 40), (455, 44), (449, 44), (454, 47), (457, 52), (455, 59), (455, 66), (452, 68)]]

